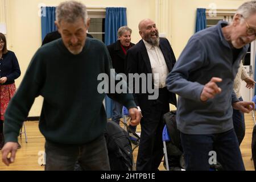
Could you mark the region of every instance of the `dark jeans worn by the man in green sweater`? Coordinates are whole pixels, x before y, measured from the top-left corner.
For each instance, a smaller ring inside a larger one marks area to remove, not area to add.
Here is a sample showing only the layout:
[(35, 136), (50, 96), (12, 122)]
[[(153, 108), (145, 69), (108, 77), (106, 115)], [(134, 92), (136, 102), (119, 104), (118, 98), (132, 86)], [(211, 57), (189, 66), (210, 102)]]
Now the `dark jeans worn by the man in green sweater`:
[(110, 171), (104, 135), (92, 142), (71, 145), (46, 140), (46, 171), (73, 171), (77, 160), (84, 170)]

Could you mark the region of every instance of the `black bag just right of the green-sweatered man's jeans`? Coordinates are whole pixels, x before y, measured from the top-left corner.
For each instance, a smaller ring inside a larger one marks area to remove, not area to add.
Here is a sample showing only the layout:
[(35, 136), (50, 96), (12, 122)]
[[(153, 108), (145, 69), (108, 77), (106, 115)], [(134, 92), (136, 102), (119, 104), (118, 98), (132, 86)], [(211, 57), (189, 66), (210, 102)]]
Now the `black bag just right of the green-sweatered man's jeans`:
[(108, 122), (105, 130), (110, 169), (128, 171), (133, 168), (133, 151), (129, 134), (115, 122)]

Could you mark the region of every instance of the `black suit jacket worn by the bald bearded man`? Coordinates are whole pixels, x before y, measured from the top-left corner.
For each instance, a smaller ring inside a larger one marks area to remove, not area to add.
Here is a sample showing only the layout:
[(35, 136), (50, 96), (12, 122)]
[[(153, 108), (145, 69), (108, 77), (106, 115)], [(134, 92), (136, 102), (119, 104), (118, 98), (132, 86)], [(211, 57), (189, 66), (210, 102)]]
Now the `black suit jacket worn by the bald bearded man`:
[[(171, 45), (167, 39), (160, 38), (159, 47), (163, 52), (164, 60), (166, 61), (168, 71), (171, 72), (174, 64), (176, 63), (175, 55), (172, 51)], [(126, 75), (128, 75), (129, 73), (138, 73), (139, 75), (141, 73), (152, 73), (150, 59), (148, 57), (147, 49), (143, 40), (138, 42), (135, 46), (131, 47), (127, 51), (125, 65)], [(141, 85), (142, 82), (140, 84), (140, 87)], [(153, 80), (151, 88), (154, 88)], [(154, 102), (154, 100), (148, 100), (148, 95), (150, 95), (150, 93), (140, 92), (134, 94), (135, 102), (137, 106), (141, 107), (142, 110), (143, 108), (150, 107), (152, 102)], [(177, 106), (176, 95), (174, 93), (169, 93), (168, 101), (171, 104)]]

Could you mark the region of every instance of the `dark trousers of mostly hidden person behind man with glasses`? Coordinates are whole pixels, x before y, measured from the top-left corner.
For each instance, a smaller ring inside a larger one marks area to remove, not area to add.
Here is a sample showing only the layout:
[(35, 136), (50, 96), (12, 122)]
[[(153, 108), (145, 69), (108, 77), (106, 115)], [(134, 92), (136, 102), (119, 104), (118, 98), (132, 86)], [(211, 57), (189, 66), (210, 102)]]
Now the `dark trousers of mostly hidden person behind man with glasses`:
[[(239, 100), (243, 101), (242, 97), (240, 97)], [(240, 145), (245, 137), (245, 114), (240, 110), (233, 109), (233, 125)]]

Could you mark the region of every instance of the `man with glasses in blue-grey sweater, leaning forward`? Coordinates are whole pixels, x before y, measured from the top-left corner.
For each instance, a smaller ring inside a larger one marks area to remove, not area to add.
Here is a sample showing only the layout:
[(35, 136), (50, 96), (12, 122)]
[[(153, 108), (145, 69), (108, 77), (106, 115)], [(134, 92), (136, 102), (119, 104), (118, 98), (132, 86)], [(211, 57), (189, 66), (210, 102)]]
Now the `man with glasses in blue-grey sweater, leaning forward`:
[(232, 106), (249, 113), (255, 105), (239, 101), (233, 84), (255, 30), (256, 1), (243, 3), (232, 23), (193, 35), (167, 77), (168, 90), (179, 95), (176, 119), (187, 170), (209, 170), (216, 160), (225, 170), (245, 170)]

